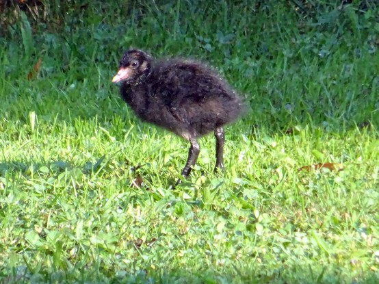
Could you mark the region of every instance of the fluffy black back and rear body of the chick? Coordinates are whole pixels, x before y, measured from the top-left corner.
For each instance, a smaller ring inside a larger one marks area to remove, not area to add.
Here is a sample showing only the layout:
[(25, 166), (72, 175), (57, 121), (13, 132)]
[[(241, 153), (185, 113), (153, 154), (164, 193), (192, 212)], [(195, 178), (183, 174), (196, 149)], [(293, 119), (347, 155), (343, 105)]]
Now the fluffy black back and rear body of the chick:
[(236, 92), (215, 71), (193, 61), (165, 60), (153, 68), (153, 92), (177, 123), (204, 135), (232, 122), (243, 111)]

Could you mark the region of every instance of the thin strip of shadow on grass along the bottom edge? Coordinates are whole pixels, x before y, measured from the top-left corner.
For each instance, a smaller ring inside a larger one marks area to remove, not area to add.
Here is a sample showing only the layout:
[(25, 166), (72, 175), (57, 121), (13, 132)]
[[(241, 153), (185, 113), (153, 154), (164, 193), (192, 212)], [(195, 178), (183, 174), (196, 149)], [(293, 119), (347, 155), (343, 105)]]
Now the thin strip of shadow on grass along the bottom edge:
[[(250, 266), (251, 267), (251, 266)], [(262, 269), (262, 268), (261, 268)], [(194, 271), (190, 268), (175, 270), (139, 270), (131, 273), (126, 270), (106, 271), (101, 267), (79, 268), (77, 270), (55, 270), (46, 273), (27, 266), (18, 266), (12, 272), (3, 271), (1, 284), (8, 283), (378, 283), (378, 274), (362, 273), (352, 277), (341, 275), (337, 270), (326, 272), (327, 268), (318, 273), (302, 266), (278, 268), (275, 270), (257, 271), (259, 268), (238, 270), (236, 267), (228, 272), (210, 270)], [(0, 270), (1, 271), (1, 270)]]

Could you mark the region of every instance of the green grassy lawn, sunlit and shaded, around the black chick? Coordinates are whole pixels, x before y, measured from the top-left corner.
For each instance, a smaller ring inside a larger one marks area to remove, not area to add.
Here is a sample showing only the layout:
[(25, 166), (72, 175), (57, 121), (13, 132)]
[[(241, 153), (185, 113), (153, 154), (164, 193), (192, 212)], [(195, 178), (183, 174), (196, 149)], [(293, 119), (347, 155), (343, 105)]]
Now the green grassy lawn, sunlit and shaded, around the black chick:
[[(23, 16), (0, 39), (0, 283), (377, 283), (378, 11), (320, 9)], [(110, 83), (130, 45), (210, 62), (244, 95), (222, 175), (207, 136), (170, 188), (189, 145)], [(343, 170), (299, 170), (318, 163)]]

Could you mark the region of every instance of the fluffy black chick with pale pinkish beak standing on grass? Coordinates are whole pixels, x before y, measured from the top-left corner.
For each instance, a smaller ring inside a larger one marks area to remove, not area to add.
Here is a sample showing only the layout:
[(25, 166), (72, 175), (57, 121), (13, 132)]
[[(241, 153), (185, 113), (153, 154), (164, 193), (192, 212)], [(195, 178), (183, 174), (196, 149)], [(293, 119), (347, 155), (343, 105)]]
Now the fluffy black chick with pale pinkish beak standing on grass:
[[(224, 170), (224, 125), (246, 107), (241, 96), (212, 67), (200, 61), (166, 57), (155, 60), (140, 49), (129, 49), (112, 79), (120, 96), (144, 122), (163, 127), (189, 141), (187, 178), (200, 153), (198, 138), (215, 136), (214, 172)], [(179, 179), (176, 185), (181, 183)]]

